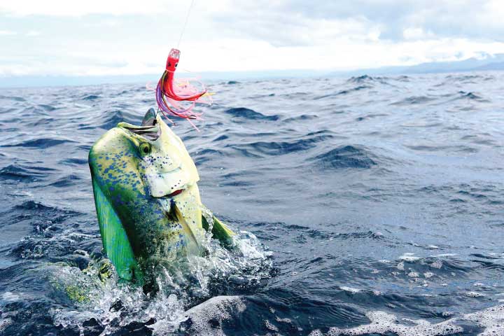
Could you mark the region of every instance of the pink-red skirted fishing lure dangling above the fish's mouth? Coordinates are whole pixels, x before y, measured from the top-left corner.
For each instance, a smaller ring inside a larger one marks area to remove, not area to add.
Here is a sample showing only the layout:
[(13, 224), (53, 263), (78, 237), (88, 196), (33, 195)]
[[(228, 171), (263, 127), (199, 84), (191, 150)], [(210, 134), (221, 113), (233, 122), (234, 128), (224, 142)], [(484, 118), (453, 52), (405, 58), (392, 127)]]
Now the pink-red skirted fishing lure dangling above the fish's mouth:
[(202, 113), (193, 111), (196, 103), (211, 104), (211, 97), (203, 83), (198, 82), (201, 86), (198, 89), (190, 82), (190, 79), (174, 78), (179, 59), (180, 50), (172, 48), (168, 55), (165, 72), (156, 87), (156, 101), (165, 117), (176, 116), (188, 119), (190, 122), (190, 119), (201, 119), (202, 116)]

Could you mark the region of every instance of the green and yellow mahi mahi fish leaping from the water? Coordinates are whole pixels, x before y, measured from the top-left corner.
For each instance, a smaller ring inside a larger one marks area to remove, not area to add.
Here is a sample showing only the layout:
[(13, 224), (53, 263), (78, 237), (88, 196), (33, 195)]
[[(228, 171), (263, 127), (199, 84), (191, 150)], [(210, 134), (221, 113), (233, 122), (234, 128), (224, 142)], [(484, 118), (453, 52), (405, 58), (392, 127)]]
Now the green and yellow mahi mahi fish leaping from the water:
[(106, 132), (89, 165), (104, 250), (120, 279), (144, 285), (160, 265), (203, 255), (206, 231), (229, 246), (234, 233), (206, 216), (195, 163), (154, 109), (141, 125)]

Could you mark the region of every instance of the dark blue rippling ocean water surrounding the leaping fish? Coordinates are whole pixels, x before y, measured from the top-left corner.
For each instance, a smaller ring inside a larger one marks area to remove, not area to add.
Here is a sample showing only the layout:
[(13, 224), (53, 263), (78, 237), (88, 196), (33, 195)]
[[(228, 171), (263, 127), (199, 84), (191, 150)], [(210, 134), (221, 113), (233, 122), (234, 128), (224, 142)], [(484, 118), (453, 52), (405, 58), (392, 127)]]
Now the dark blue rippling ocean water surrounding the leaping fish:
[(97, 280), (87, 152), (153, 92), (0, 90), (0, 335), (504, 335), (504, 73), (211, 91), (173, 130), (239, 254), (151, 297)]

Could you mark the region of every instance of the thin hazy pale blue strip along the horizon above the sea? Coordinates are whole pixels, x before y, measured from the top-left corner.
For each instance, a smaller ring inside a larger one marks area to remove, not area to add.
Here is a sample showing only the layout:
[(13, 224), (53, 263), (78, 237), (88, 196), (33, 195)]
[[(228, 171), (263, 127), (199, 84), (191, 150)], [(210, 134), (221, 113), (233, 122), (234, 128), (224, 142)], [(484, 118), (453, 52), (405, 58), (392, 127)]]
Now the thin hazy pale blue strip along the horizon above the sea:
[[(211, 82), (228, 80), (264, 80), (278, 78), (345, 77), (363, 75), (405, 75), (421, 73), (450, 73), (467, 71), (503, 71), (504, 54), (485, 55), (452, 62), (428, 62), (412, 66), (382, 66), (350, 71), (328, 70), (268, 70), (202, 72), (200, 77)], [(155, 85), (160, 74), (125, 76), (0, 76), (0, 88), (44, 87), (68, 85), (100, 85), (116, 83), (148, 83)]]

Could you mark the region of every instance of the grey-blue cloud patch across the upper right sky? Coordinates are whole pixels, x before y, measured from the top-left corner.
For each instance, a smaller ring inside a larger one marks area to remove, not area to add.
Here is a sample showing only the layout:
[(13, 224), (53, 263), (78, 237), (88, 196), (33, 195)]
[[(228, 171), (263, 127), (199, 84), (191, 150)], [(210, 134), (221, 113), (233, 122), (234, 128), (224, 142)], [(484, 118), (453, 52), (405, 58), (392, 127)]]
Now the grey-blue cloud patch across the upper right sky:
[[(297, 21), (298, 27), (307, 27), (309, 20), (342, 22), (346, 29), (342, 34), (352, 34), (349, 22), (359, 22), (363, 27), (379, 31), (382, 40), (403, 40), (404, 32), (423, 31), (423, 36), (414, 38), (492, 38), (504, 41), (504, 1), (502, 0), (353, 0), (353, 1), (269, 1), (235, 0), (234, 6), (215, 13), (221, 20), (221, 29), (239, 30), (248, 36), (261, 36), (271, 43), (281, 45), (279, 36), (290, 34), (296, 38), (286, 18)], [(217, 20), (216, 20), (217, 21)], [(265, 27), (272, 28), (262, 34)], [(413, 30), (414, 29), (414, 30)], [(276, 34), (272, 34), (274, 31)], [(277, 33), (278, 32), (278, 33)], [(316, 37), (316, 31), (314, 34)], [(291, 43), (286, 39), (286, 43)]]

